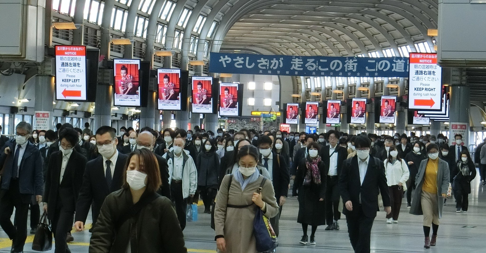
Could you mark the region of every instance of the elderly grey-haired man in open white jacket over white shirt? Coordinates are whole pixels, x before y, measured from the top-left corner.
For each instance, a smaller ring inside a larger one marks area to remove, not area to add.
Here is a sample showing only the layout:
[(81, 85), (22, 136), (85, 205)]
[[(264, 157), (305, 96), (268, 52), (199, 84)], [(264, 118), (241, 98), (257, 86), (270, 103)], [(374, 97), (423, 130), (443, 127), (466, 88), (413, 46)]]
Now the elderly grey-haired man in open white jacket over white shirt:
[(176, 138), (174, 146), (162, 156), (169, 165), (172, 202), (174, 202), (175, 212), (182, 230), (186, 227), (188, 200), (192, 201), (197, 188), (196, 165), (189, 155), (189, 151), (184, 150), (185, 144), (186, 141), (183, 138)]

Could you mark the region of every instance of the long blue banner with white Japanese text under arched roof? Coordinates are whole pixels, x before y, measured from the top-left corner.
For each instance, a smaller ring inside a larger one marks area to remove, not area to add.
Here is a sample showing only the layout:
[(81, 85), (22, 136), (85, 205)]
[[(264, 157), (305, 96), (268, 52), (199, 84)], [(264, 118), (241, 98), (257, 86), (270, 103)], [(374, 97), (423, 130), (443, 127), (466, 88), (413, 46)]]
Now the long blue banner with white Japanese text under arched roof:
[(282, 76), (408, 77), (408, 57), (210, 53), (209, 72)]

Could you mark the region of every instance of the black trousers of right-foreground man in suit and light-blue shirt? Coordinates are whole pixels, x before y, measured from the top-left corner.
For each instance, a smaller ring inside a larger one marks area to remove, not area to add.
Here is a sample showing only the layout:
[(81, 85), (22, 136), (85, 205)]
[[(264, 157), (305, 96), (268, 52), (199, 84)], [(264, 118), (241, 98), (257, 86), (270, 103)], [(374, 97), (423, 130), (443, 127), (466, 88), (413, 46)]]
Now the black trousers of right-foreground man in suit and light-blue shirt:
[[(353, 206), (353, 208), (356, 208)], [(370, 236), (371, 227), (375, 218), (369, 218), (364, 216), (361, 205), (359, 208), (359, 214), (356, 216), (347, 215), (347, 233), (349, 235), (349, 241), (355, 253), (369, 253), (370, 252)]]

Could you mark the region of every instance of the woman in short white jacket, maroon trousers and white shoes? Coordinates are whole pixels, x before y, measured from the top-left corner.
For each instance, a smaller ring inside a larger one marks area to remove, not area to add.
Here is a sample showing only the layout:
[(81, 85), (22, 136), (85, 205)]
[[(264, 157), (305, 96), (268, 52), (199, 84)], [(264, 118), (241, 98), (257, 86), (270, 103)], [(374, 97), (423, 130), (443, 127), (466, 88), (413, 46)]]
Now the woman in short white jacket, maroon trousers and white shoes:
[(400, 214), (401, 199), (403, 192), (407, 190), (407, 180), (410, 176), (408, 166), (405, 160), (400, 159), (396, 146), (390, 147), (388, 158), (385, 159), (385, 173), (388, 190), (390, 192), (390, 200), (392, 211), (386, 215), (386, 223), (398, 223), (398, 216)]

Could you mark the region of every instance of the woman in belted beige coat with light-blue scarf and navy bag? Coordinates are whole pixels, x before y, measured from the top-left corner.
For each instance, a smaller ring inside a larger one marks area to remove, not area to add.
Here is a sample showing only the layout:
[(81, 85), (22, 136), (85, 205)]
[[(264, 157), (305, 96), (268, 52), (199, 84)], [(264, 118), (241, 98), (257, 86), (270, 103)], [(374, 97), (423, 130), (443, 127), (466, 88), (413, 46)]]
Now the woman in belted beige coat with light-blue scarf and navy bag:
[[(261, 194), (256, 193), (264, 177), (258, 171), (260, 154), (254, 146), (243, 146), (237, 154), (240, 166), (226, 175), (216, 196), (214, 225), (218, 252), (256, 253), (253, 220), (256, 208), (272, 218), (278, 214), (278, 204), (272, 181), (266, 180)], [(231, 184), (228, 186), (231, 177)]]

